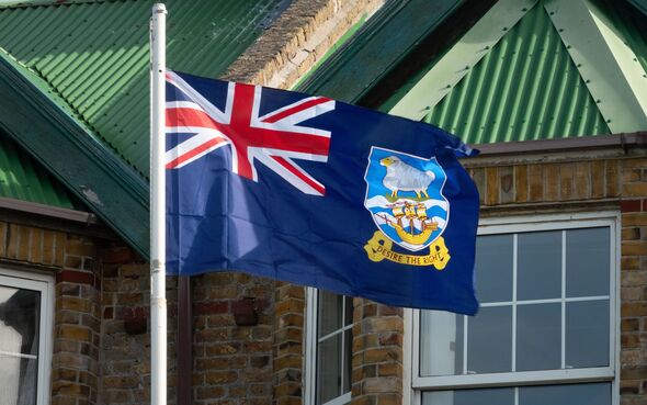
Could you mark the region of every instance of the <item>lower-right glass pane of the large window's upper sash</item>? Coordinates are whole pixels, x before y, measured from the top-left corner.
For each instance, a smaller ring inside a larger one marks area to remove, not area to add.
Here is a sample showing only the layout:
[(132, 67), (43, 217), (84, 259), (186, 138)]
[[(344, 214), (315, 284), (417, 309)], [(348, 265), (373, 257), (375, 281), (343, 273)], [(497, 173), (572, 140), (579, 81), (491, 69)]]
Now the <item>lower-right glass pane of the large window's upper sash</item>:
[(566, 303), (566, 367), (609, 365), (609, 301)]

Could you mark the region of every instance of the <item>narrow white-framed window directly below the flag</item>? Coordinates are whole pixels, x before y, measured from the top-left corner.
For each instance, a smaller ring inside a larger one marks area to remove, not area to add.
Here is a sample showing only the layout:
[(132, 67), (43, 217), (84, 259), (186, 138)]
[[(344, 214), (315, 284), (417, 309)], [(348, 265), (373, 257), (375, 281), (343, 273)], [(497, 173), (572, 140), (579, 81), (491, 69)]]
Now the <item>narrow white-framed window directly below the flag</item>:
[(306, 319), (305, 403), (350, 403), (353, 299), (308, 289)]

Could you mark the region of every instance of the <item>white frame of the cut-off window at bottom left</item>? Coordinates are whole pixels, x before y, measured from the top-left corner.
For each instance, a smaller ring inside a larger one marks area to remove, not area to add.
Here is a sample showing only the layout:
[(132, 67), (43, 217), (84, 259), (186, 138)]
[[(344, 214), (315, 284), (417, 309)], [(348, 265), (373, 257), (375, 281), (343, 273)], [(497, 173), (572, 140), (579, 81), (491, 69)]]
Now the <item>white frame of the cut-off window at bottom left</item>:
[(41, 293), (38, 327), (38, 376), (36, 405), (48, 405), (52, 392), (52, 348), (54, 346), (54, 277), (41, 272), (0, 268), (0, 284)]

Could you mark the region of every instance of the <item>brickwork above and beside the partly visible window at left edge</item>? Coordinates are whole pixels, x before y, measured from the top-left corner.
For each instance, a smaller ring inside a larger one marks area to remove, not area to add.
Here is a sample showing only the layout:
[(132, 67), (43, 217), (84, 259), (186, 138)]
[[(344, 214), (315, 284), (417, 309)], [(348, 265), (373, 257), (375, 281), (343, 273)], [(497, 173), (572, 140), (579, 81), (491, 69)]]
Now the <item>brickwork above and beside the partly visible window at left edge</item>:
[(52, 404), (97, 404), (100, 288), (92, 238), (0, 223), (0, 258), (25, 271), (56, 278)]

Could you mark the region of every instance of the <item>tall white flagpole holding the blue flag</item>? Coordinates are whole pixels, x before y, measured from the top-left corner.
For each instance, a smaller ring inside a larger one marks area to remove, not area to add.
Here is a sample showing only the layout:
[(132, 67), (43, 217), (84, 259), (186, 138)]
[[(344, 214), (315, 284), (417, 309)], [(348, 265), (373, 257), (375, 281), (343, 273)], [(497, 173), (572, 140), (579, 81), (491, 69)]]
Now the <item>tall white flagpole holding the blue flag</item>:
[(166, 22), (162, 3), (150, 19), (150, 403), (167, 404), (166, 297)]

